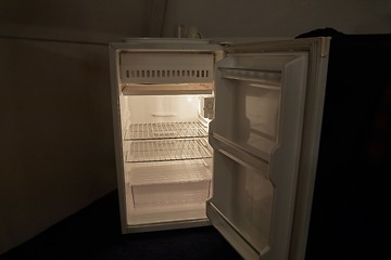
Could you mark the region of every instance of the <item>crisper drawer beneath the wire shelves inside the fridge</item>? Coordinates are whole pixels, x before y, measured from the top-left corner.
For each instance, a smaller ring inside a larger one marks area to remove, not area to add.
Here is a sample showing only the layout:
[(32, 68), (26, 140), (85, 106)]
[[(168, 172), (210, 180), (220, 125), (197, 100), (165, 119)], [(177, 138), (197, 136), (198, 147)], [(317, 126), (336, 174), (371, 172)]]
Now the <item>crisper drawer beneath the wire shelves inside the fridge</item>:
[(143, 164), (131, 170), (128, 188), (134, 208), (203, 204), (211, 194), (210, 166), (202, 160), (150, 167)]

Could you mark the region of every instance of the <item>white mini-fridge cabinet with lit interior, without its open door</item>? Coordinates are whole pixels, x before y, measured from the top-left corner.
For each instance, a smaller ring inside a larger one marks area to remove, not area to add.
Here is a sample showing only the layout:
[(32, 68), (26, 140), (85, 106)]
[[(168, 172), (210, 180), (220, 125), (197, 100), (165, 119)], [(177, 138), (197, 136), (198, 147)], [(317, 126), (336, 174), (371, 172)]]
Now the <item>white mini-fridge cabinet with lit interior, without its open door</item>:
[(123, 232), (210, 223), (217, 52), (203, 41), (176, 43), (131, 41), (112, 52)]

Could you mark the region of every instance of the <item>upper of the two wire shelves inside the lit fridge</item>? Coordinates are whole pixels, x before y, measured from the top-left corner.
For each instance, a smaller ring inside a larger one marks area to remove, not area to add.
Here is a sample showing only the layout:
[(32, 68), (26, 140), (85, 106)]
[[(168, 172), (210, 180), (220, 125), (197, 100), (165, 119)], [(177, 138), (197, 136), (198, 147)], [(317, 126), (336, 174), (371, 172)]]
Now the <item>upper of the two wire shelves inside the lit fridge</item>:
[(133, 123), (125, 140), (184, 139), (207, 136), (206, 128), (198, 122)]

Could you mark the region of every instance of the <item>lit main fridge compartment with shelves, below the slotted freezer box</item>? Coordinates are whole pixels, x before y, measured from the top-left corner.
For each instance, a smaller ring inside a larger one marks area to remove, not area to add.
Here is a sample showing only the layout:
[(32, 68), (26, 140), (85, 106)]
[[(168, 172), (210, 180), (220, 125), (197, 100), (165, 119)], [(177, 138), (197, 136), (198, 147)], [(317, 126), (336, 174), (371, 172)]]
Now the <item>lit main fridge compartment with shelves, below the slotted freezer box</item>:
[(206, 219), (212, 193), (211, 95), (122, 95), (128, 225)]

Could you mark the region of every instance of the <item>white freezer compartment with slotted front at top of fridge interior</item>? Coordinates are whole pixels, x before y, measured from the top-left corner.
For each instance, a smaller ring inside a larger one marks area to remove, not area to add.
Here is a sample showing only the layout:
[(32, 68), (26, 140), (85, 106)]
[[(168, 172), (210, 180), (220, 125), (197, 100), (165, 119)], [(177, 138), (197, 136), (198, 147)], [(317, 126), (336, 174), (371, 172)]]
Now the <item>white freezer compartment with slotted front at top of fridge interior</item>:
[(124, 95), (212, 94), (214, 53), (124, 51), (119, 62)]

